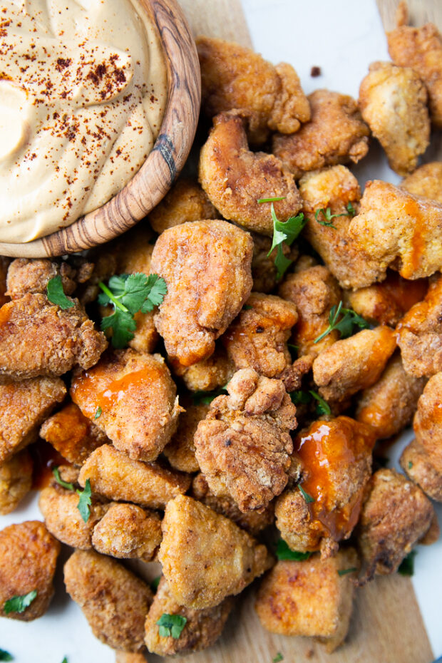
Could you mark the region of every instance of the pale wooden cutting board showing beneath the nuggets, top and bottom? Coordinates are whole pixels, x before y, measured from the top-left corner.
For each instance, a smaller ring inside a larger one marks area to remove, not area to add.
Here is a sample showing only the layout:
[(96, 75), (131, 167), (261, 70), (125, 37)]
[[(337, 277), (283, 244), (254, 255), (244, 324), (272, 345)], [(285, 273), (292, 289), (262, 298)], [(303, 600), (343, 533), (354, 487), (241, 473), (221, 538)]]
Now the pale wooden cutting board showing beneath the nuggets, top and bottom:
[[(251, 46), (240, 0), (180, 0), (193, 34), (205, 34)], [(397, 0), (378, 0), (386, 29), (394, 27)], [(442, 29), (441, 0), (410, 0), (414, 25), (431, 20)], [(441, 158), (442, 155), (439, 155)], [(356, 591), (349, 637), (344, 647), (327, 654), (307, 638), (264, 631), (253, 608), (255, 590), (238, 598), (221, 639), (200, 654), (178, 657), (177, 663), (272, 663), (278, 652), (284, 663), (430, 663), (433, 652), (411, 580), (401, 575), (379, 577)], [(149, 654), (149, 661), (160, 662)]]

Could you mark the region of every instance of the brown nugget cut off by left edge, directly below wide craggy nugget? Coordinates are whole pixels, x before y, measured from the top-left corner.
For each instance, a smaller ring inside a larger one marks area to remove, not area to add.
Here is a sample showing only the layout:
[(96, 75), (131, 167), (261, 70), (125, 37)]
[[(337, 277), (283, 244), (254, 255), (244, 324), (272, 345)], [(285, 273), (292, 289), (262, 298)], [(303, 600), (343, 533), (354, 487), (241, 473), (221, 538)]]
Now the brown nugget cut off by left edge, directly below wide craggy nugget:
[(39, 426), (65, 395), (55, 377), (0, 384), (0, 463), (36, 441)]

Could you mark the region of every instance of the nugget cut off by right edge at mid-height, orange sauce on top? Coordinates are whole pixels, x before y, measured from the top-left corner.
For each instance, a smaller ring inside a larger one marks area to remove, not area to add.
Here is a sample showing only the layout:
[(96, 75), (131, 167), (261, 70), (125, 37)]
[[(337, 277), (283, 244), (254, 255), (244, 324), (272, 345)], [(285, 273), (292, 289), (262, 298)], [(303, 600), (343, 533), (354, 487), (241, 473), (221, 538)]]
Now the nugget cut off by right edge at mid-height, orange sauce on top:
[(396, 327), (404, 369), (415, 377), (442, 371), (442, 275), (430, 279), (423, 302), (414, 304)]

